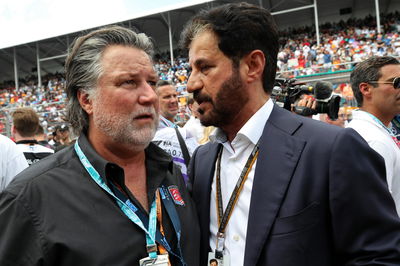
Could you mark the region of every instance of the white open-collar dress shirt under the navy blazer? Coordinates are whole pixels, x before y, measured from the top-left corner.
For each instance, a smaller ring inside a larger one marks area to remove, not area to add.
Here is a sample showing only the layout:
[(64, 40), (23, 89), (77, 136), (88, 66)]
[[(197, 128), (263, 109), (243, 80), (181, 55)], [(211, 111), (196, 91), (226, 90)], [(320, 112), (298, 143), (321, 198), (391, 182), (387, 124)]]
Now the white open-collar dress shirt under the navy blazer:
[[(247, 159), (262, 135), (273, 106), (272, 100), (269, 99), (239, 130), (231, 143), (229, 143), (226, 135), (220, 129), (217, 129), (210, 136), (212, 142), (222, 143), (223, 145), (220, 179), (224, 211)], [(244, 183), (243, 190), (225, 230), (224, 254), (230, 256), (231, 265), (243, 265), (244, 262), (247, 222), (256, 165), (257, 161), (254, 163)], [(216, 248), (218, 232), (215, 183), (216, 177), (214, 173), (210, 201), (210, 246), (213, 251)]]

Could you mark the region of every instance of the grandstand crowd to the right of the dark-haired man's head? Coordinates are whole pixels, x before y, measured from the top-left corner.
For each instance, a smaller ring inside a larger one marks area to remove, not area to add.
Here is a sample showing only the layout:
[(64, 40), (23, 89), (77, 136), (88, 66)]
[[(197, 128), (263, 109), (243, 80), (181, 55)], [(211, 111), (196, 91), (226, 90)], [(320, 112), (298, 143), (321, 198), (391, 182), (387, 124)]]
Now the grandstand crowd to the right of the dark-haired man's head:
[(400, 13), (384, 15), (382, 21), (384, 31), (381, 34), (372, 16), (323, 24), (319, 45), (312, 27), (281, 32), (279, 71), (289, 76), (310, 75), (351, 69), (354, 63), (372, 55), (399, 56)]

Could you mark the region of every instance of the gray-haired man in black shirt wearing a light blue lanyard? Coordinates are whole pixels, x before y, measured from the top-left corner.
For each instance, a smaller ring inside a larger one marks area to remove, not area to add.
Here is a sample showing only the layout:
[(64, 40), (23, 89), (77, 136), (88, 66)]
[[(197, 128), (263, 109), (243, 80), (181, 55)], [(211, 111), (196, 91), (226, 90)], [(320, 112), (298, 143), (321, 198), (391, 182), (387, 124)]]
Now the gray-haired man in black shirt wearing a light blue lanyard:
[(66, 80), (79, 138), (0, 194), (0, 265), (198, 265), (194, 206), (150, 143), (152, 53), (145, 34), (118, 26), (75, 41)]

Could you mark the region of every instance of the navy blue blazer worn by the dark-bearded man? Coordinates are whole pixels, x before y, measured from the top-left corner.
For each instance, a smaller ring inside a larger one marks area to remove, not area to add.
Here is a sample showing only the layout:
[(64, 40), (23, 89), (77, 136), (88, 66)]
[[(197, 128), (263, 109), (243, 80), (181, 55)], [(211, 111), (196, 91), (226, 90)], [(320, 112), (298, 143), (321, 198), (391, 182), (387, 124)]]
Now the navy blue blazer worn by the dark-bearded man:
[[(200, 146), (189, 170), (201, 226), (200, 265), (207, 265), (210, 250), (219, 147)], [(245, 266), (400, 265), (400, 219), (383, 158), (352, 129), (278, 106), (260, 140), (248, 219)]]

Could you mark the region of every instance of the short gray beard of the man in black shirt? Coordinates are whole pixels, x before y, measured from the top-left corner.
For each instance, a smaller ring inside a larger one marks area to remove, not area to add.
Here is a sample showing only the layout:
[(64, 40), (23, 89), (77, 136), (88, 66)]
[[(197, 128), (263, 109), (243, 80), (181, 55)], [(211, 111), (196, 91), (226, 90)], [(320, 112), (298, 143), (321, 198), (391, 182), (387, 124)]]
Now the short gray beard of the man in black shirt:
[[(101, 97), (101, 96), (100, 96)], [(147, 147), (153, 139), (158, 125), (158, 115), (154, 107), (143, 107), (131, 113), (117, 113), (108, 111), (106, 103), (97, 99), (93, 106), (93, 122), (105, 135), (111, 137), (115, 142), (128, 144), (131, 149), (136, 146)], [(152, 123), (139, 124), (136, 122), (142, 114), (152, 114)]]

